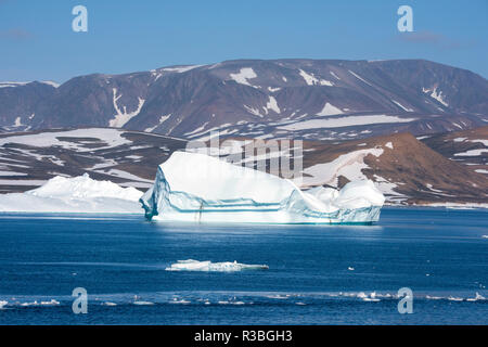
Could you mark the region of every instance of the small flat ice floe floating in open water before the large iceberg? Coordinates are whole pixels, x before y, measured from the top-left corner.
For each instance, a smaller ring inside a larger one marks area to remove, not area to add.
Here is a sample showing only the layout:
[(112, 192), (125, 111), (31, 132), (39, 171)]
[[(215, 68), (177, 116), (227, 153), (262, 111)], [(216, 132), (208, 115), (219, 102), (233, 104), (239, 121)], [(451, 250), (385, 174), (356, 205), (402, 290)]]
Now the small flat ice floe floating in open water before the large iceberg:
[(193, 259), (178, 260), (176, 264), (171, 264), (166, 271), (208, 271), (208, 272), (233, 272), (242, 270), (267, 270), (269, 267), (267, 265), (247, 265), (240, 264), (234, 260), (234, 262), (223, 261), (223, 262), (211, 262), (198, 261)]

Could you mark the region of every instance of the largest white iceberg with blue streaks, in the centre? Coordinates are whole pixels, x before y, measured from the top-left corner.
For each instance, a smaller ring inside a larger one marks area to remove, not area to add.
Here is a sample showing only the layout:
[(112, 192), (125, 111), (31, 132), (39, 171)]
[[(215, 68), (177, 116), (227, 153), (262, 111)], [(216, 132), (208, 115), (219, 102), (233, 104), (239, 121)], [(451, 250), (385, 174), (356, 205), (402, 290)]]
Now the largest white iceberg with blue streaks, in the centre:
[(329, 224), (377, 221), (385, 197), (370, 180), (301, 191), (278, 176), (178, 151), (140, 202), (155, 221)]

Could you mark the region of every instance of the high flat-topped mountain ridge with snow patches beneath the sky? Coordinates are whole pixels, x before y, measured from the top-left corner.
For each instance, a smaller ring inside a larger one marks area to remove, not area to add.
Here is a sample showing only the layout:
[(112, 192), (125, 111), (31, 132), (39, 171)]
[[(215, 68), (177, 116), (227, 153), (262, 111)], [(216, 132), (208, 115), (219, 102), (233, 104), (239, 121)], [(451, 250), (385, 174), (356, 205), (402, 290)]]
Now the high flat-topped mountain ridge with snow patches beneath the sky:
[[(421, 136), (488, 123), (488, 81), (425, 60), (231, 60), (91, 74), (57, 88), (33, 83), (0, 88), (3, 131), (112, 125), (193, 139), (220, 130), (223, 136), (345, 140), (395, 131)], [(384, 117), (386, 123), (372, 124), (369, 115), (414, 120), (399, 124)], [(350, 116), (361, 121), (341, 126)], [(324, 118), (341, 121), (312, 131), (286, 128)], [(364, 130), (371, 132), (361, 134)]]

